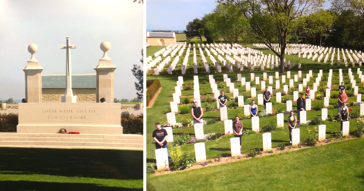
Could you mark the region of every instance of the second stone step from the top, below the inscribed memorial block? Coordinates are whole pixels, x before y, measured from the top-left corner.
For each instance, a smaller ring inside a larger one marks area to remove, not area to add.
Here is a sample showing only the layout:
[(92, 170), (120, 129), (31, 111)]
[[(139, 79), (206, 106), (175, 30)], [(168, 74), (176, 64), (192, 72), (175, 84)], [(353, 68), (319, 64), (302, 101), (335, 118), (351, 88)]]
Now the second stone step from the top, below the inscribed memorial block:
[(97, 138), (60, 138), (60, 137), (0, 137), (0, 141), (61, 141), (61, 142), (97, 142), (97, 143), (140, 143), (142, 139), (97, 139)]

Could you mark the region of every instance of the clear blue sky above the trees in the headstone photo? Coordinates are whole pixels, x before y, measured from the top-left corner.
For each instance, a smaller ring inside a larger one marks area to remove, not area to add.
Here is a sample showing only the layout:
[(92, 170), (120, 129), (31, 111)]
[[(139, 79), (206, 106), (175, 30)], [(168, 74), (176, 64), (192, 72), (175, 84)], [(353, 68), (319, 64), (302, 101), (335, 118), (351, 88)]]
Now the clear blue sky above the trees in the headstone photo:
[[(147, 30), (184, 30), (189, 21), (210, 13), (215, 0), (146, 0)], [(330, 2), (324, 4), (324, 9)]]

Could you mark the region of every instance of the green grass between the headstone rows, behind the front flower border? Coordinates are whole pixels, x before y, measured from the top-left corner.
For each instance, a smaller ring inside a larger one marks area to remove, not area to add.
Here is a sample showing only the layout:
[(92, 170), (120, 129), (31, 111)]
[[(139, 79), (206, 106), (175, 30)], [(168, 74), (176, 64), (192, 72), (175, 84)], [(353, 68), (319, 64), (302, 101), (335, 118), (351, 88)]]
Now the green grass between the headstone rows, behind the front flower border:
[[(253, 47), (252, 45), (245, 45), (245, 47)], [(261, 50), (263, 51), (265, 54), (271, 53), (271, 51), (268, 51), (266, 49), (261, 49), (261, 48), (257, 48), (254, 47), (257, 50)], [(148, 49), (147, 49), (147, 53), (148, 53)], [(205, 52), (204, 52), (205, 53)], [(185, 55), (185, 53), (183, 53), (183, 55)], [(184, 56), (183, 56), (184, 57)], [(148, 163), (154, 163), (155, 162), (155, 154), (154, 154), (154, 150), (155, 150), (155, 146), (154, 146), (154, 140), (152, 139), (152, 132), (155, 129), (154, 127), (154, 123), (159, 122), (159, 123), (167, 123), (167, 119), (166, 119), (166, 113), (170, 111), (170, 105), (169, 102), (171, 100), (173, 100), (173, 96), (172, 93), (174, 93), (174, 87), (177, 85), (176, 81), (178, 80), (177, 76), (181, 75), (181, 65), (182, 65), (182, 60), (183, 57), (180, 58), (179, 63), (176, 65), (176, 69), (173, 71), (174, 75), (163, 75), (165, 73), (163, 73), (164, 71), (160, 72), (160, 76), (151, 76), (151, 72), (149, 72), (147, 75), (147, 79), (159, 79), (161, 81), (161, 85), (162, 85), (162, 91), (159, 93), (157, 100), (155, 101), (154, 105), (152, 108), (147, 108), (147, 132), (146, 132), (146, 136), (147, 136), (147, 162)], [(246, 78), (246, 81), (250, 80), (250, 71), (248, 70), (244, 70), (242, 72), (240, 72), (240, 70), (235, 69), (233, 72), (226, 72), (226, 67), (222, 67), (223, 72), (222, 73), (217, 73), (212, 66), (212, 62), (209, 59), (209, 57), (207, 56), (207, 54), (205, 53), (205, 57), (208, 61), (208, 63), (210, 64), (210, 69), (211, 69), (211, 73), (214, 75), (214, 79), (216, 81), (216, 83), (221, 82), (221, 84), (223, 84), (223, 74), (227, 73), (228, 77), (232, 80), (235, 81), (237, 79), (237, 73), (241, 73), (242, 77)], [(194, 75), (198, 75), (199, 76), (199, 82), (200, 82), (200, 94), (201, 96), (205, 96), (210, 97), (213, 96), (210, 86), (209, 84), (202, 84), (203, 81), (207, 81), (208, 83), (208, 75), (207, 73), (204, 73), (204, 67), (202, 64), (202, 60), (200, 61), (199, 59), (201, 59), (201, 57), (197, 57), (198, 60), (198, 74), (193, 74), (193, 67), (192, 67), (192, 56), (189, 57), (189, 63), (187, 64), (187, 71), (186, 74), (183, 75), (183, 80), (184, 80), (184, 84), (190, 84), (193, 82), (193, 76)], [(215, 57), (215, 59), (217, 59), (217, 56)], [(298, 55), (286, 55), (286, 61), (290, 60), (291, 62), (296, 61), (296, 65), (298, 65), (298, 62), (302, 63), (302, 69), (298, 69), (293, 68), (291, 69), (291, 79), (293, 79), (295, 74), (298, 74), (298, 70), (302, 71), (302, 76), (305, 76), (306, 73), (308, 73), (309, 70), (312, 70), (313, 72), (313, 78), (310, 78), (310, 82), (308, 83), (309, 85), (311, 85), (312, 88), (312, 83), (313, 81), (315, 81), (315, 77), (317, 77), (317, 73), (319, 72), (320, 69), (323, 69), (323, 76), (327, 76), (329, 69), (333, 69), (333, 78), (332, 78), (332, 84), (336, 85), (335, 88), (337, 88), (338, 84), (339, 84), (339, 69), (337, 66), (335, 66), (335, 64), (332, 66), (329, 64), (329, 61), (327, 64), (323, 64), (321, 63), (317, 63), (317, 61), (312, 61), (311, 60), (307, 60), (307, 59), (299, 59)], [(173, 59), (171, 60), (173, 61)], [(222, 65), (222, 63), (219, 63), (220, 65)], [(168, 64), (166, 64), (166, 67), (169, 67)], [(348, 72), (348, 68), (352, 68), (353, 74), (355, 75), (355, 80), (358, 82), (360, 82), (360, 80), (358, 79), (358, 75), (356, 75), (356, 68), (357, 67), (345, 67), (343, 65), (340, 66), (340, 68), (343, 68), (343, 76), (344, 76), (344, 82), (345, 84), (348, 84), (350, 81), (348, 79), (347, 76), (347, 72)], [(286, 71), (288, 70), (288, 68), (286, 68)], [(267, 76), (275, 76), (275, 72), (278, 71), (277, 68), (275, 68), (273, 71), (271, 71), (270, 69), (264, 72), (267, 72)], [(260, 79), (262, 80), (263, 78), (263, 71), (254, 71), (254, 75), (259, 76)], [(281, 78), (280, 78), (281, 79)], [(302, 80), (302, 79), (300, 79)], [(295, 82), (294, 86), (297, 87), (299, 83), (302, 82)], [(321, 81), (320, 82), (320, 87), (325, 87), (327, 81)], [(240, 82), (236, 82), (235, 83), (235, 87), (239, 89), (239, 95), (244, 95), (244, 96), (248, 96), (248, 100), (245, 102), (245, 104), (250, 103), (252, 99), (250, 99), (250, 92), (245, 92), (245, 87), (238, 87), (238, 85), (241, 84)], [(252, 87), (257, 87), (260, 89), (260, 86), (256, 86), (255, 83), (251, 83), (253, 84)], [(289, 79), (286, 79), (286, 83), (285, 84), (281, 84), (281, 88), (283, 88), (283, 85), (289, 85)], [(363, 85), (357, 83), (357, 85), (360, 87), (359, 88), (359, 93), (364, 93), (363, 91)], [(268, 87), (268, 80), (266, 81), (266, 86)], [(275, 84), (272, 84), (270, 86), (273, 86), (273, 92), (275, 91)], [(193, 87), (193, 85), (190, 85), (190, 87)], [(221, 90), (228, 90), (228, 88), (218, 88), (220, 91)], [(291, 91), (298, 91), (297, 88), (290, 88), (289, 92)], [(335, 91), (335, 89), (333, 89), (333, 91)], [(347, 92), (350, 92), (352, 90), (348, 90)], [(185, 89), (182, 91), (182, 96), (186, 96), (187, 93), (189, 93), (190, 95), (193, 95), (193, 91), (186, 91)], [(262, 92), (257, 92), (257, 94), (260, 94)], [(332, 92), (333, 93), (333, 92)], [(322, 94), (322, 93), (321, 93)], [(232, 95), (229, 94), (228, 95)], [(317, 93), (316, 93), (317, 95)], [(290, 95), (290, 97), (292, 98), (293, 96)], [(185, 99), (185, 98), (181, 98)], [(257, 101), (257, 99), (255, 99)], [(272, 100), (275, 100), (275, 97), (272, 97)], [(356, 97), (351, 97), (349, 98), (349, 100), (352, 101), (356, 101)], [(230, 101), (230, 103), (232, 103), (233, 101)], [(318, 103), (323, 103), (323, 100), (319, 100), (319, 101), (312, 101), (312, 106), (311, 108), (313, 108), (316, 104)], [(330, 104), (334, 105), (337, 103), (337, 99), (330, 99)], [(215, 104), (215, 103), (212, 103)], [(206, 103), (202, 103), (202, 107), (205, 107)], [(292, 106), (293, 109), (296, 108), (296, 103), (293, 103)], [(354, 106), (354, 107), (350, 107), (352, 108), (354, 111), (359, 111), (359, 106)], [(263, 110), (264, 107), (260, 106), (259, 107), (259, 111)], [(285, 111), (286, 109), (286, 104), (277, 104), (277, 105), (273, 105), (273, 110), (281, 110), (281, 111)], [(236, 116), (238, 113), (240, 112), (244, 112), (244, 109), (242, 108), (237, 108), (237, 109), (232, 109), (228, 111), (228, 117), (229, 118), (233, 118), (234, 116)], [(328, 110), (329, 115), (336, 115), (337, 114), (337, 109), (331, 109)], [(350, 115), (350, 114), (349, 114)], [(286, 122), (286, 118), (288, 115), (285, 115), (285, 124), (287, 124)], [(315, 116), (321, 116), (321, 111), (309, 111), (307, 112), (307, 120), (312, 119)], [(176, 120), (177, 122), (180, 122), (181, 119), (192, 119), (190, 114), (185, 114), (185, 115), (177, 115), (176, 116)], [(219, 112), (218, 111), (211, 111), (211, 112), (204, 112), (203, 114), (203, 119), (204, 120), (219, 120)], [(272, 122), (274, 119), (276, 119), (276, 116), (271, 116), (271, 117), (264, 117), (264, 118), (260, 118), (260, 127), (263, 126), (263, 121), (264, 122)], [(246, 129), (251, 129), (251, 120), (250, 119), (245, 119), (242, 120), (243, 125)], [(340, 130), (340, 123), (336, 122), (336, 123), (331, 123), (331, 122), (324, 122), (327, 124), (327, 138), (331, 138), (332, 134), (331, 132), (334, 131), (339, 131)], [(313, 129), (316, 126), (309, 126), (310, 129)], [(181, 133), (183, 131), (183, 129), (185, 128), (178, 128), (178, 129), (173, 129), (173, 132), (177, 132), (177, 133)], [(186, 129), (189, 129), (189, 133), (191, 136), (194, 136), (194, 130), (193, 127), (188, 127)], [(350, 131), (353, 132), (356, 129), (356, 120), (351, 120), (350, 121)], [(224, 132), (224, 124), (223, 123), (215, 123), (215, 124), (209, 124), (209, 125), (205, 125), (204, 126), (204, 133), (211, 133), (211, 132)], [(307, 127), (301, 127), (301, 142), (306, 138), (307, 135)], [(175, 135), (174, 135), (175, 136)], [(289, 142), (289, 136), (288, 136), (288, 130), (278, 130), (278, 131), (274, 131), (272, 132), (272, 146), (275, 147), (280, 143), (288, 143)], [(229, 139), (221, 139), (221, 140), (213, 140), (213, 141), (208, 141), (205, 143), (206, 146), (206, 156), (207, 158), (213, 158), (215, 157), (217, 154), (222, 154), (223, 156), (231, 156), (230, 155), (230, 144), (229, 144)], [(171, 147), (171, 145), (170, 145)], [(262, 138), (261, 138), (261, 134), (255, 134), (255, 135), (247, 135), (244, 136), (243, 138), (243, 146), (242, 146), (242, 151), (243, 152), (247, 152), (249, 149), (251, 148), (261, 148), (262, 147)], [(189, 153), (192, 156), (194, 156), (194, 148), (193, 148), (193, 144), (186, 144), (186, 145), (182, 145), (181, 149), (183, 152)]]

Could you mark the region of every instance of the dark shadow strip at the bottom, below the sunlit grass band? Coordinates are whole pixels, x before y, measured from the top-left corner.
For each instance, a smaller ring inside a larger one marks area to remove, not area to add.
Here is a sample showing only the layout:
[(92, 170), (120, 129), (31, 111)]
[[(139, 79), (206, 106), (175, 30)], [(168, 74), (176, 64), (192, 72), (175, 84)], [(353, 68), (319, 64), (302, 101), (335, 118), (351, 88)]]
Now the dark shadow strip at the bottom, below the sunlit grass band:
[(78, 190), (78, 191), (136, 191), (143, 190), (143, 188), (120, 188), (120, 187), (104, 187), (98, 184), (86, 183), (58, 183), (58, 182), (35, 182), (35, 181), (1, 181), (1, 190), (36, 190), (36, 191), (64, 191), (64, 190)]

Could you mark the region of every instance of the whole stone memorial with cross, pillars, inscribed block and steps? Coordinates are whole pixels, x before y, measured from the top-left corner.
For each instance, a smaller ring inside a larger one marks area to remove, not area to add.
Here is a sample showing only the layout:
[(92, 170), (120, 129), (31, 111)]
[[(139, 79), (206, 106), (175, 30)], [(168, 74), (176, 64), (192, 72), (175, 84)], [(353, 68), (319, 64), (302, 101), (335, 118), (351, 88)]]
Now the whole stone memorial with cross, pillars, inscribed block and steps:
[[(23, 68), (28, 103), (18, 104), (17, 132), (2, 133), (1, 146), (143, 150), (142, 135), (123, 135), (122, 106), (113, 103), (116, 66), (107, 55), (110, 43), (100, 44), (103, 56), (94, 68), (96, 75), (72, 75), (71, 49), (76, 45), (66, 37), (60, 47), (66, 49), (66, 74), (42, 76), (41, 61), (35, 59), (38, 47), (28, 46), (31, 59)], [(99, 103), (100, 98), (106, 102)]]

